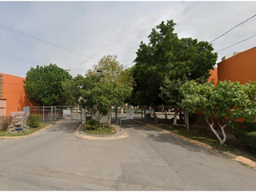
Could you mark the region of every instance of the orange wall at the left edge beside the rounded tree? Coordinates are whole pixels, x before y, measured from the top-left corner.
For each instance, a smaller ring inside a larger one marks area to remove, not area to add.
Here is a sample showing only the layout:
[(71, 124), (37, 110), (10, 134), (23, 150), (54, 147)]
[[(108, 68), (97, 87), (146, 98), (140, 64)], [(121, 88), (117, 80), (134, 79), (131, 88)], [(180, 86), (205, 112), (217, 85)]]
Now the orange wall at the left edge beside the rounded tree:
[(34, 102), (30, 102), (24, 90), (23, 80), (10, 74), (2, 75), (2, 99), (6, 99), (6, 115), (9, 116), (10, 112), (20, 111), (25, 106), (36, 106)]

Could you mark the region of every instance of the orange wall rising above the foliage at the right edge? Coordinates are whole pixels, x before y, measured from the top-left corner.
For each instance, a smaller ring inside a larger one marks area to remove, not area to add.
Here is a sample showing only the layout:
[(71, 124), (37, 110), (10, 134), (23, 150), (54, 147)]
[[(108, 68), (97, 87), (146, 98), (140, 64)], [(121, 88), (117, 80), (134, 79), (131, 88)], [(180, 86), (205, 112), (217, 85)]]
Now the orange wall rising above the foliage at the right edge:
[(256, 81), (256, 46), (218, 63), (218, 81)]

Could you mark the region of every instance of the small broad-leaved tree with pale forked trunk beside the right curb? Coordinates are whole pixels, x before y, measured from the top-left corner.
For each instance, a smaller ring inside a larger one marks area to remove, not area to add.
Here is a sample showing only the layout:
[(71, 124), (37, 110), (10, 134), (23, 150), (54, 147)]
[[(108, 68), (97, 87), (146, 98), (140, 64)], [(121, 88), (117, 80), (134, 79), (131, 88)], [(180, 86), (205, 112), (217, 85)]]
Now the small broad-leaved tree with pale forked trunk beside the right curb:
[[(217, 86), (207, 82), (186, 82), (181, 87), (184, 99), (181, 106), (188, 113), (202, 111), (206, 123), (218, 138), (220, 144), (226, 142), (225, 128), (237, 118), (242, 118), (243, 111), (246, 110), (250, 102), (245, 87), (239, 82), (218, 82)], [(234, 113), (237, 111), (237, 113)], [(222, 138), (214, 128), (214, 119), (217, 126), (222, 131)]]

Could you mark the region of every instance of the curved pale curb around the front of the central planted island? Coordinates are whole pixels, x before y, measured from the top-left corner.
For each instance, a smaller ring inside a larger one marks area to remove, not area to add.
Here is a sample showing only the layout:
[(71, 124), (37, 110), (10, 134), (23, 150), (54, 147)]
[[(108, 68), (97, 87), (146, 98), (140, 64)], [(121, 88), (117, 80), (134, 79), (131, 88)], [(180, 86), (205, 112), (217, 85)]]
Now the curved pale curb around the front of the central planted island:
[(90, 135), (86, 135), (86, 134), (79, 134), (78, 130), (80, 130), (80, 127), (82, 126), (82, 124), (79, 124), (77, 130), (75, 130), (74, 132), (74, 136), (78, 137), (78, 138), (85, 138), (85, 139), (89, 139), (89, 140), (95, 140), (95, 141), (110, 141), (110, 140), (117, 140), (117, 139), (122, 139), (122, 138), (128, 138), (129, 134), (122, 129), (125, 134), (121, 134), (118, 136), (114, 135), (110, 135), (110, 136), (103, 136), (103, 137), (94, 137), (94, 136), (90, 136)]

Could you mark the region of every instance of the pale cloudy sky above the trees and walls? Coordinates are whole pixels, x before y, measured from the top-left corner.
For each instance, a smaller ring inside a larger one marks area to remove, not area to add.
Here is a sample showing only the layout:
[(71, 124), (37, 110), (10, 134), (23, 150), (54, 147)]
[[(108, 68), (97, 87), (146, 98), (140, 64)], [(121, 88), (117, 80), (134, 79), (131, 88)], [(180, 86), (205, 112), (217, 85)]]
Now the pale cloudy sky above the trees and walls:
[[(255, 7), (256, 2), (0, 2), (0, 73), (26, 78), (31, 67), (55, 63), (73, 76), (84, 75), (108, 54), (130, 67), (140, 42), (148, 43), (162, 21), (173, 19), (179, 38), (210, 42), (256, 14)], [(256, 34), (255, 26), (256, 17), (213, 42), (214, 51)], [(218, 52), (217, 62), (254, 46), (256, 37)]]

